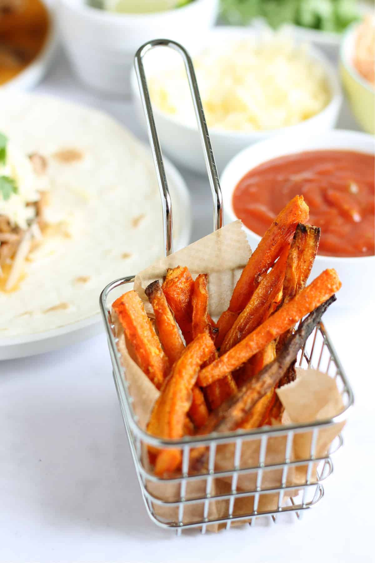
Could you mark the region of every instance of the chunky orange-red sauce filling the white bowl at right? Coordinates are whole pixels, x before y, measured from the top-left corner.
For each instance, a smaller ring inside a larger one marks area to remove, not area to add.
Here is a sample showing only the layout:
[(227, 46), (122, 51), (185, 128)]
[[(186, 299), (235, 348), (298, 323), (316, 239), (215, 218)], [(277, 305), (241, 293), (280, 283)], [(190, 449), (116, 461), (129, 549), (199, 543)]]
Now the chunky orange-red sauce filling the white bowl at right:
[(233, 211), (263, 236), (295, 195), (310, 208), (311, 225), (321, 227), (319, 254), (358, 257), (375, 253), (374, 155), (317, 150), (269, 160), (253, 168), (233, 192)]

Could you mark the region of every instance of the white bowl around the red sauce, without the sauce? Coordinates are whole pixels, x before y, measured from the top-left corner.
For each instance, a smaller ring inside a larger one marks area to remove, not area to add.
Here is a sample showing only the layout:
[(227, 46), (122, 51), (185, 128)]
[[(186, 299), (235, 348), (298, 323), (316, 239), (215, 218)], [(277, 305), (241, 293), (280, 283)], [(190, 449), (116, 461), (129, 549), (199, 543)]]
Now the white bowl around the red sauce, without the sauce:
[[(228, 163), (220, 178), (225, 222), (237, 220), (238, 217), (233, 211), (232, 204), (233, 191), (241, 178), (252, 168), (282, 155), (321, 149), (356, 150), (374, 154), (375, 140), (372, 135), (366, 133), (336, 129), (312, 137), (283, 135), (249, 146)], [(275, 190), (277, 190), (277, 184), (275, 184)], [(247, 227), (244, 229), (254, 251), (261, 237)], [(342, 282), (337, 299), (338, 306), (364, 307), (368, 300), (372, 300), (375, 256), (342, 258), (318, 254), (310, 279), (316, 278), (326, 268), (335, 268)]]

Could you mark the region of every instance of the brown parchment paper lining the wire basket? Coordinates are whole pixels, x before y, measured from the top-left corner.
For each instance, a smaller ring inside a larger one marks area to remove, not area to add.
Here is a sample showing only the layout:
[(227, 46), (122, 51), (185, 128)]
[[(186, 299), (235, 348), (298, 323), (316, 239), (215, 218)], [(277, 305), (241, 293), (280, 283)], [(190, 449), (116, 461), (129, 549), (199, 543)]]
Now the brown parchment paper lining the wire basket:
[[(232, 295), (234, 285), (246, 265), (251, 249), (246, 240), (245, 232), (242, 230), (241, 221), (235, 221), (219, 231), (198, 240), (196, 243), (171, 254), (162, 260), (155, 262), (146, 270), (140, 272), (134, 281), (134, 290), (145, 301), (148, 307), (144, 288), (153, 280), (160, 279), (166, 273), (166, 269), (175, 266), (187, 266), (193, 278), (198, 274), (209, 274), (209, 308), (210, 315), (217, 318), (221, 312), (227, 309)], [(155, 403), (159, 391), (152, 385), (132, 359), (132, 348), (125, 342), (121, 325), (112, 311), (112, 319), (115, 324), (116, 336), (119, 338), (118, 348), (121, 352), (121, 362), (126, 370), (126, 379), (129, 384), (129, 392), (134, 402), (133, 408), (138, 416), (138, 423), (144, 429), (152, 406)], [(309, 369), (298, 369), (297, 379), (290, 385), (278, 390), (285, 412), (283, 423), (310, 423), (318, 419), (331, 418), (340, 413), (344, 405), (338, 392), (336, 382), (327, 374)], [(324, 457), (327, 454), (332, 440), (340, 433), (345, 422), (338, 423), (329, 428), (321, 428), (318, 433), (315, 457)], [(310, 457), (312, 432), (295, 434), (291, 450), (291, 461), (298, 461)], [(241, 468), (257, 467), (259, 464), (260, 439), (243, 440), (241, 451)], [(286, 435), (269, 437), (265, 464), (284, 463), (286, 452)], [(234, 444), (219, 445), (216, 450), (215, 471), (233, 470)], [(152, 471), (148, 463), (146, 448), (142, 452), (143, 467)], [(316, 465), (316, 464), (315, 464)], [(307, 466), (288, 468), (286, 485), (298, 485), (306, 482)], [(180, 475), (180, 473), (179, 473)], [(277, 488), (281, 486), (282, 469), (264, 470), (261, 481), (261, 489)], [(316, 467), (311, 472), (310, 482), (316, 480)], [(213, 480), (211, 497), (216, 494), (228, 494), (231, 491), (232, 477)], [(180, 500), (180, 484), (166, 482), (153, 482), (147, 480), (147, 490), (155, 497), (163, 501)], [(237, 490), (256, 490), (256, 472), (244, 473), (238, 476)], [(296, 495), (298, 489), (288, 490), (288, 497)], [(206, 480), (198, 480), (187, 483), (186, 499), (204, 497), (206, 494)], [(278, 504), (278, 493), (260, 494), (258, 512), (276, 510)], [(215, 520), (228, 515), (228, 500), (211, 501), (209, 503), (209, 520)], [(233, 515), (249, 515), (254, 506), (254, 496), (236, 499)], [(178, 507), (161, 506), (153, 503), (153, 510), (161, 520), (178, 521)], [(184, 507), (183, 523), (188, 524), (203, 519), (204, 502), (187, 504)], [(223, 526), (211, 525), (207, 529), (217, 531)]]

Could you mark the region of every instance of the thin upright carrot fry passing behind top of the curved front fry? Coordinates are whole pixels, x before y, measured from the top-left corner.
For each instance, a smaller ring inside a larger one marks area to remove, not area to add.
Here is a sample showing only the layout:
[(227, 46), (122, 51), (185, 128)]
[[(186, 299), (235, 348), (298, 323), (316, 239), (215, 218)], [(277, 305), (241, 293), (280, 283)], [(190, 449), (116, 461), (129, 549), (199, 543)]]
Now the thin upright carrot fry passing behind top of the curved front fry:
[[(207, 274), (200, 274), (194, 283), (194, 291), (192, 297), (193, 305), (193, 336), (197, 336), (201, 332), (207, 332), (211, 338), (215, 339), (212, 325), (209, 322), (208, 314), (209, 294), (207, 291)], [(218, 357), (216, 350), (209, 363)], [(220, 381), (215, 381), (213, 385), (207, 387), (206, 397), (211, 409), (216, 409), (219, 405), (228, 399), (233, 393), (237, 392), (237, 386), (232, 375), (229, 373)]]

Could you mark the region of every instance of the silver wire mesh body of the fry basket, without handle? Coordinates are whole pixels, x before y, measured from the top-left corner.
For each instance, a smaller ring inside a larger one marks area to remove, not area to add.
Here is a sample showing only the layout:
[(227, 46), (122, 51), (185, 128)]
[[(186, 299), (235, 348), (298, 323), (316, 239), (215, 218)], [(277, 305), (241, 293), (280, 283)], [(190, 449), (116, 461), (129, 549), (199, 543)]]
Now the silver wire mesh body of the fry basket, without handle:
[[(110, 291), (133, 280), (132, 276), (117, 280), (111, 284)], [(105, 295), (105, 302), (110, 291)], [(181, 473), (168, 480), (155, 477), (146, 454), (147, 446), (155, 445), (155, 439), (145, 434), (137, 424), (133, 397), (129, 394), (126, 372), (121, 366), (116, 347), (110, 311), (107, 306), (102, 308), (103, 311), (121, 412), (144, 503), (153, 521), (178, 531), (187, 528), (206, 531), (218, 526), (229, 528), (232, 524), (247, 521), (254, 525), (259, 516), (272, 517), (276, 521), (278, 514), (294, 512), (301, 517), (305, 510), (323, 497), (322, 482), (332, 473), (331, 455), (341, 447), (342, 438), (338, 436), (323, 456), (317, 457), (315, 448), (320, 432), (342, 423), (342, 417), (325, 424), (313, 423), (292, 429), (284, 427), (274, 430), (268, 427), (240, 435), (231, 433), (225, 438), (210, 436), (200, 442), (207, 448), (207, 463), (205, 470), (196, 474), (189, 473), (189, 455), (197, 443), (186, 439), (181, 443)], [(345, 410), (351, 406), (353, 394), (323, 324), (310, 335), (306, 346), (300, 351), (298, 364), (302, 368), (319, 368), (335, 379)], [(311, 435), (310, 451), (306, 458), (296, 460), (290, 452), (293, 440), (302, 432)], [(267, 457), (268, 444), (274, 439), (281, 441), (284, 449), (279, 459), (270, 460)], [(243, 450), (249, 447), (249, 443), (256, 444), (253, 447), (258, 452), (257, 464), (252, 466), (242, 460)], [(233, 464), (225, 471), (220, 470), (217, 464), (223, 444), (226, 449), (230, 445), (233, 453)], [(171, 444), (160, 445), (171, 447)], [(291, 473), (298, 474), (298, 479), (291, 478)]]

